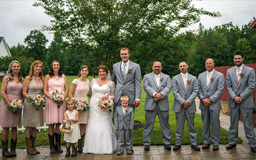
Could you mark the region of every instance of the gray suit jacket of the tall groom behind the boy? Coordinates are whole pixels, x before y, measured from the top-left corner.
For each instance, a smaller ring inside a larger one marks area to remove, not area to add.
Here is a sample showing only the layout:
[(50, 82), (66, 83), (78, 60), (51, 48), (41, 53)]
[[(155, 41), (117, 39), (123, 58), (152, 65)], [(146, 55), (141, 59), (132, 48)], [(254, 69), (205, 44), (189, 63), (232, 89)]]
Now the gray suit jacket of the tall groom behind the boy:
[(132, 69), (126, 74), (125, 79), (121, 71), (121, 62), (113, 65), (112, 81), (116, 83), (115, 104), (119, 103), (121, 95), (129, 97), (129, 105), (132, 105), (135, 99), (140, 99), (141, 95), (141, 72), (137, 63), (131, 62), (128, 69)]

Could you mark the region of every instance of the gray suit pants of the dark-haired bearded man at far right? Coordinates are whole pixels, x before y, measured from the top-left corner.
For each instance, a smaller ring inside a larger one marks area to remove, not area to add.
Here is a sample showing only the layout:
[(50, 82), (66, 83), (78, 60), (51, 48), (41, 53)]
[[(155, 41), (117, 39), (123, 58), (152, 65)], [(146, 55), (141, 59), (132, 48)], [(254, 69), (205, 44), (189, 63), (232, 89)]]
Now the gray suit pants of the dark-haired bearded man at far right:
[(238, 140), (238, 123), (239, 123), (239, 115), (241, 112), (243, 123), (244, 123), (244, 131), (245, 136), (248, 140), (248, 145), (250, 147), (256, 146), (255, 140), (255, 132), (253, 130), (252, 124), (252, 110), (253, 109), (244, 109), (241, 104), (236, 104), (234, 108), (229, 108), (230, 110), (230, 127), (229, 127), (229, 144), (237, 144)]

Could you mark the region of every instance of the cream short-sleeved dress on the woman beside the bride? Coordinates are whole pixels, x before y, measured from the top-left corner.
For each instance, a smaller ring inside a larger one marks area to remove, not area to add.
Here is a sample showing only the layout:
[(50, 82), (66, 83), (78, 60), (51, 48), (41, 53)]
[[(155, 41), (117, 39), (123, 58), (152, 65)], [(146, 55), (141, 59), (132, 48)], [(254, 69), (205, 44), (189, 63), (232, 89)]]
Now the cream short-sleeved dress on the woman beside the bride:
[[(87, 79), (86, 82), (81, 82), (78, 79), (74, 79), (72, 81), (72, 84), (76, 85), (76, 89), (74, 92), (75, 100), (86, 101), (87, 103), (89, 103), (87, 95), (89, 94), (89, 90), (90, 90), (90, 86), (89, 86), (90, 81)], [(79, 124), (87, 124), (88, 115), (89, 115), (88, 112), (80, 111), (78, 123)]]

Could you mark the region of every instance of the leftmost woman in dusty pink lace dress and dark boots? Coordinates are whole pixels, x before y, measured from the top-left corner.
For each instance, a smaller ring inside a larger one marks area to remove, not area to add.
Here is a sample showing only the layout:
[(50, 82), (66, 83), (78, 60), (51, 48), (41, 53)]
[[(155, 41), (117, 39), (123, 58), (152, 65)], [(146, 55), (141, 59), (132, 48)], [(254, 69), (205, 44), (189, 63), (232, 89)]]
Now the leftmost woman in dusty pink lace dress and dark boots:
[[(14, 99), (22, 99), (23, 77), (20, 72), (20, 64), (18, 61), (12, 61), (9, 65), (8, 74), (3, 78), (0, 102), (0, 126), (4, 127), (2, 132), (2, 154), (6, 157), (16, 156), (17, 143), (17, 127), (20, 126), (22, 111), (14, 114), (7, 110), (11, 106), (11, 101)], [(8, 136), (9, 128), (11, 129), (11, 153), (8, 151)]]

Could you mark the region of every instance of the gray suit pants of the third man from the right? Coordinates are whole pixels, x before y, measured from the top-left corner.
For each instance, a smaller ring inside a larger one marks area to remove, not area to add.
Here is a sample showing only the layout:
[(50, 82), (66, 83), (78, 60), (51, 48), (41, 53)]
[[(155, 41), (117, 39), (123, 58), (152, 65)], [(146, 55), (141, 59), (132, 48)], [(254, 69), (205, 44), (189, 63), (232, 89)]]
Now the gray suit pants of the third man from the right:
[(195, 113), (189, 113), (187, 109), (181, 109), (180, 113), (176, 112), (176, 131), (175, 145), (181, 145), (181, 139), (184, 131), (185, 118), (187, 120), (188, 133), (190, 135), (191, 145), (197, 145), (197, 131), (194, 126)]

